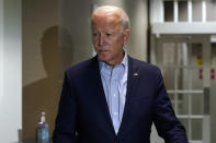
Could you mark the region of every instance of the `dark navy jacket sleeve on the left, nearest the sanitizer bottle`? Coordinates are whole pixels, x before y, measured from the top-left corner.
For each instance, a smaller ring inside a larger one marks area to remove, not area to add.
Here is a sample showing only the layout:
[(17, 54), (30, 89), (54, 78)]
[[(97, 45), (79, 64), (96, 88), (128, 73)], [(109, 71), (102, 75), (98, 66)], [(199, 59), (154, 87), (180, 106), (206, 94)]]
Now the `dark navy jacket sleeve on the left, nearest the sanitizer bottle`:
[(66, 72), (53, 134), (54, 143), (76, 143), (76, 117), (75, 88)]

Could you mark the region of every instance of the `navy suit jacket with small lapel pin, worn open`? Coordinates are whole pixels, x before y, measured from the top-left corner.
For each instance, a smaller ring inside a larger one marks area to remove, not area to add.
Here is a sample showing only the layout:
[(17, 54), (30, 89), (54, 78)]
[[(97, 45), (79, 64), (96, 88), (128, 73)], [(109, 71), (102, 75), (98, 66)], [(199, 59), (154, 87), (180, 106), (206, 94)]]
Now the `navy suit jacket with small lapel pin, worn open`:
[(96, 57), (65, 73), (54, 143), (150, 143), (151, 124), (166, 143), (187, 143), (160, 70), (128, 57), (126, 103), (115, 134)]

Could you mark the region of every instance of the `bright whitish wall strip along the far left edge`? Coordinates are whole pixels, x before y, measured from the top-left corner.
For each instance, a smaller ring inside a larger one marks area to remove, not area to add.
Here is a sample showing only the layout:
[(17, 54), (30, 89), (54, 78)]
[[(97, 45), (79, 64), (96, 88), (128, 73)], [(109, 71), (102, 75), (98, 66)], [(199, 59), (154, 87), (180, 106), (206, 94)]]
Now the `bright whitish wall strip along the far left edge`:
[(0, 0), (0, 142), (19, 140), (22, 128), (21, 0)]

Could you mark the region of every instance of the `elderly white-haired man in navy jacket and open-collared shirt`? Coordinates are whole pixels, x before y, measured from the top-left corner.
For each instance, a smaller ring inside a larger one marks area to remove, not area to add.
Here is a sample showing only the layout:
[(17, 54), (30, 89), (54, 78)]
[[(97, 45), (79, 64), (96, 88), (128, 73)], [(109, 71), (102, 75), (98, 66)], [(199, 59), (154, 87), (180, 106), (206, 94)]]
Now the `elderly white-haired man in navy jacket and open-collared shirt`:
[(112, 5), (92, 14), (96, 56), (65, 73), (54, 143), (149, 143), (151, 124), (166, 143), (187, 143), (160, 70), (124, 50), (129, 19)]

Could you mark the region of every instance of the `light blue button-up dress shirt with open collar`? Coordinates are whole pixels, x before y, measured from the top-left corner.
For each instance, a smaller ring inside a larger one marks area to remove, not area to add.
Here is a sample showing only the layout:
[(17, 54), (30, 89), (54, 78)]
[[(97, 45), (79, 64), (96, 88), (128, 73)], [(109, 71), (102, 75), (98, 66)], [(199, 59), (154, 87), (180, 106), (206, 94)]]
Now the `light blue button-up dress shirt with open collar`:
[(104, 61), (99, 61), (103, 90), (107, 102), (110, 115), (117, 134), (125, 107), (127, 90), (128, 59), (127, 53), (123, 61), (112, 68)]

